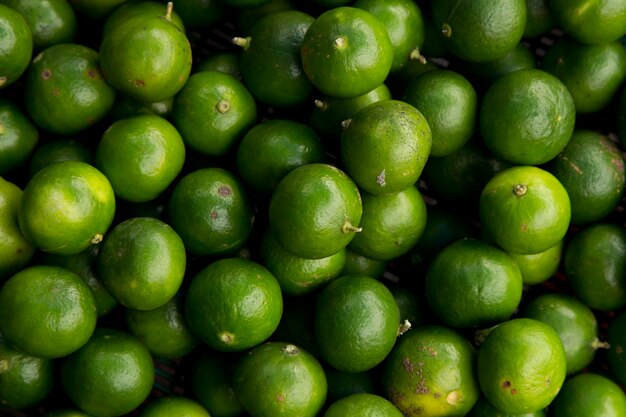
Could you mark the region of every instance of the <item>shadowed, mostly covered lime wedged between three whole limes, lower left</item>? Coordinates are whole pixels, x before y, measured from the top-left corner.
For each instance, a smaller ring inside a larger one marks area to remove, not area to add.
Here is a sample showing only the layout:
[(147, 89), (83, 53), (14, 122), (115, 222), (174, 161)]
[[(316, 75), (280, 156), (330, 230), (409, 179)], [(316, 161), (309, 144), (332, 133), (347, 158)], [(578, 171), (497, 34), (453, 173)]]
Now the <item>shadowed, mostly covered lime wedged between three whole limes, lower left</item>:
[(178, 359), (190, 354), (198, 345), (185, 318), (182, 296), (175, 296), (152, 310), (126, 309), (124, 319), (153, 356)]

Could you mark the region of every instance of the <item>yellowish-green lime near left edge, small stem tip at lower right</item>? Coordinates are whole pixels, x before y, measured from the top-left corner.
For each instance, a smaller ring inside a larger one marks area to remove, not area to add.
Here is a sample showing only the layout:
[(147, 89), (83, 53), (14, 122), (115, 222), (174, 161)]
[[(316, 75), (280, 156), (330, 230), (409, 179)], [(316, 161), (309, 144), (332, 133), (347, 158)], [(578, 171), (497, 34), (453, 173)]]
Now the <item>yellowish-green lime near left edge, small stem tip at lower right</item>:
[(65, 161), (43, 168), (26, 185), (19, 224), (41, 250), (74, 255), (102, 241), (114, 215), (115, 195), (104, 174)]

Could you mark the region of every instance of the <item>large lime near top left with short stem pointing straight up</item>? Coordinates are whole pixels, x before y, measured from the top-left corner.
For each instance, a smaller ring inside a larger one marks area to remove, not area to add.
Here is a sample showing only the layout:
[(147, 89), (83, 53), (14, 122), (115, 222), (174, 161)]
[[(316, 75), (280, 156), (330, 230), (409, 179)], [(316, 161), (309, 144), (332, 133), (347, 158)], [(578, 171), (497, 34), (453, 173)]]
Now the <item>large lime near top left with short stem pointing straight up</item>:
[[(120, 48), (120, 45), (124, 45)], [(104, 78), (122, 93), (154, 103), (178, 93), (191, 73), (191, 45), (172, 19), (138, 14), (106, 31), (100, 44)]]

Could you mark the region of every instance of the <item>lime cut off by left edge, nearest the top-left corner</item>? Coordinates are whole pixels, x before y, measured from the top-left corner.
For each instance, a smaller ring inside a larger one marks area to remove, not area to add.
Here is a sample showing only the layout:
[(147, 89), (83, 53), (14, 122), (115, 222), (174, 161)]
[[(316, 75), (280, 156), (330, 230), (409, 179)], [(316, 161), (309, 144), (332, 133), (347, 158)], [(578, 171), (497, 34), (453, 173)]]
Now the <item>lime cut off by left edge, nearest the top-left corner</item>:
[(33, 34), (24, 17), (0, 4), (0, 90), (17, 81), (33, 54)]

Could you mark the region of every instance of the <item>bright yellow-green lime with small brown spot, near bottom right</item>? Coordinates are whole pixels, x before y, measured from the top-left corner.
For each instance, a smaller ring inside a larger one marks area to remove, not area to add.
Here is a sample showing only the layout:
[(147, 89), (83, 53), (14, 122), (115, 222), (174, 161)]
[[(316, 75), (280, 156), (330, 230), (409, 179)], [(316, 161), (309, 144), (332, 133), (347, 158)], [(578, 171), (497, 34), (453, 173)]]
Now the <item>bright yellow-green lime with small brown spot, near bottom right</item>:
[(554, 400), (567, 361), (558, 333), (539, 320), (516, 318), (493, 328), (478, 349), (478, 382), (504, 413), (529, 413)]

